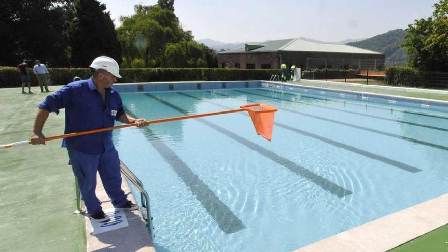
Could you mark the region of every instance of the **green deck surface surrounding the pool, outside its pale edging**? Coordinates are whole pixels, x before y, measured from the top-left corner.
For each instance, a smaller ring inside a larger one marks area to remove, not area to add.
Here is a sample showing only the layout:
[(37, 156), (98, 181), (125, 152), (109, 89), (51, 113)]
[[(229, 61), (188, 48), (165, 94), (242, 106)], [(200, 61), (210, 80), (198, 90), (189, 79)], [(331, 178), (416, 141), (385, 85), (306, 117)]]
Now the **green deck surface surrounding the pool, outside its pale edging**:
[[(291, 83), (291, 82), (288, 82)], [(366, 88), (331, 82), (298, 85), (448, 101), (448, 93), (412, 89)], [(57, 90), (61, 86), (51, 86)], [(29, 139), (39, 104), (48, 94), (21, 94), (21, 88), (0, 89), (0, 144)], [(51, 114), (46, 136), (64, 131), (64, 110)], [(0, 251), (86, 251), (85, 219), (76, 209), (74, 177), (61, 141), (45, 146), (0, 150)], [(448, 251), (448, 226), (443, 226), (391, 251)]]

